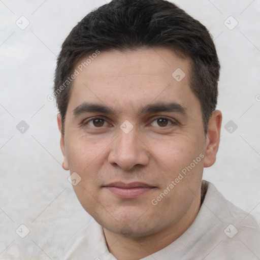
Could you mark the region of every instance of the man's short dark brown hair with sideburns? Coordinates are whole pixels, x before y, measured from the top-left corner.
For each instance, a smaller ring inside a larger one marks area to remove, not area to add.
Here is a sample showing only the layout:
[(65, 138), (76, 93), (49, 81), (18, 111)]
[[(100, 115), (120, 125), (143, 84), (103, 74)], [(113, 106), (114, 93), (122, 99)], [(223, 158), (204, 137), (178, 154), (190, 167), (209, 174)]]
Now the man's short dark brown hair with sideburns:
[[(73, 81), (83, 57), (110, 49), (169, 47), (191, 60), (190, 87), (198, 97), (205, 133), (217, 104), (220, 64), (207, 28), (182, 9), (164, 0), (113, 0), (86, 15), (62, 44), (57, 59), (54, 93), (62, 133)], [(60, 90), (62, 87), (62, 91)]]

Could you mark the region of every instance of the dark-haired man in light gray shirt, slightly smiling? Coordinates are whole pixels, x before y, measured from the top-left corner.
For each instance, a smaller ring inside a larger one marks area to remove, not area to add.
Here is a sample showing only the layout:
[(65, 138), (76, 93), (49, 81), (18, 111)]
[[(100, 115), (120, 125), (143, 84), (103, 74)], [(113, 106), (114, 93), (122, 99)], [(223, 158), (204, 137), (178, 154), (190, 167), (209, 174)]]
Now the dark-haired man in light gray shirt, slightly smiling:
[(54, 95), (63, 168), (93, 217), (63, 259), (260, 259), (256, 220), (214, 164), (219, 61), (208, 30), (163, 0), (114, 0), (64, 41)]

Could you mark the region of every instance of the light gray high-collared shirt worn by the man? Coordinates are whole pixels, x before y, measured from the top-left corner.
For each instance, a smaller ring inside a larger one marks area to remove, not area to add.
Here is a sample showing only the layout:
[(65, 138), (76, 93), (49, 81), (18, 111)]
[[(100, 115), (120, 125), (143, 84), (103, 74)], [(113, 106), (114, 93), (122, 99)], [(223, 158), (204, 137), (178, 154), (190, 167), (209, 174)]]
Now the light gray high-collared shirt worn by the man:
[[(259, 260), (260, 227), (256, 219), (227, 201), (207, 181), (205, 198), (189, 228), (167, 247), (142, 260)], [(93, 218), (67, 244), (62, 260), (116, 260), (103, 228)]]

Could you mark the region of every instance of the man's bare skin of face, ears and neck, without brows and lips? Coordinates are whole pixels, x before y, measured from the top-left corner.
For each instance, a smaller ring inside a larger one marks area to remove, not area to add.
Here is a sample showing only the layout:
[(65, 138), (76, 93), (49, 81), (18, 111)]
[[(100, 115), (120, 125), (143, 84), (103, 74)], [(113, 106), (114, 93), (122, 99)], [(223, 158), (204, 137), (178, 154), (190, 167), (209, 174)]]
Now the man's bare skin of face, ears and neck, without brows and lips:
[[(177, 68), (186, 74), (180, 82), (172, 77)], [(188, 58), (167, 48), (113, 50), (101, 52), (74, 80), (60, 139), (63, 168), (81, 176), (74, 186), (76, 195), (103, 226), (109, 251), (119, 260), (140, 259), (163, 249), (198, 214), (203, 168), (215, 162), (222, 115), (213, 112), (205, 135), (200, 102), (189, 87), (189, 68)], [(75, 116), (73, 111), (84, 102), (106, 105), (115, 115)], [(182, 106), (184, 113), (138, 113), (149, 104), (168, 102)], [(96, 124), (89, 121), (93, 117), (105, 120)], [(166, 126), (158, 121), (162, 117), (169, 119)], [(125, 120), (134, 127), (128, 134), (120, 128)], [(61, 131), (60, 115), (57, 121)], [(205, 157), (152, 205), (152, 199), (200, 154)], [(115, 181), (155, 188), (122, 199), (103, 187)]]

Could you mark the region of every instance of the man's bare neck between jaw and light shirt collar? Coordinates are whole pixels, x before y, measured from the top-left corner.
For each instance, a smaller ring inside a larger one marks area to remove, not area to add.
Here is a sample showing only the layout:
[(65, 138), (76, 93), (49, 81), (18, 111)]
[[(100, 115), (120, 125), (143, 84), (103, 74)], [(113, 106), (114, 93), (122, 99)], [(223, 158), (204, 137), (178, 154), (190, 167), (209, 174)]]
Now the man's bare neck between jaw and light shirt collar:
[(109, 251), (118, 260), (138, 260), (170, 245), (191, 225), (200, 209), (200, 196), (196, 197), (183, 217), (165, 230), (145, 237), (126, 237), (104, 228)]

